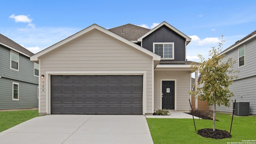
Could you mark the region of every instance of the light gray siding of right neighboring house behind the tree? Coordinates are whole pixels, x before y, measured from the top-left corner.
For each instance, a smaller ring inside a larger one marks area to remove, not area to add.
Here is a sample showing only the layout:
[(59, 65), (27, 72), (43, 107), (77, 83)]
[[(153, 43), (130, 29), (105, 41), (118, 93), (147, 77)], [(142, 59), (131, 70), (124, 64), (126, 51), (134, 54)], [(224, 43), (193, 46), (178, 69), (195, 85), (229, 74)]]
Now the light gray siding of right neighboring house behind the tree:
[[(242, 46), (245, 46), (245, 66), (239, 68), (238, 48)], [(240, 71), (234, 74), (238, 78), (234, 79), (233, 84), (230, 86), (231, 92), (234, 93), (232, 100), (236, 100), (236, 102), (250, 102), (250, 114), (256, 114), (256, 38), (227, 52), (224, 60), (227, 58), (236, 60), (233, 69), (234, 71)], [(233, 103), (230, 102), (230, 104), (229, 108), (217, 106), (216, 111), (232, 112)], [(210, 110), (213, 110), (213, 106), (210, 106)]]

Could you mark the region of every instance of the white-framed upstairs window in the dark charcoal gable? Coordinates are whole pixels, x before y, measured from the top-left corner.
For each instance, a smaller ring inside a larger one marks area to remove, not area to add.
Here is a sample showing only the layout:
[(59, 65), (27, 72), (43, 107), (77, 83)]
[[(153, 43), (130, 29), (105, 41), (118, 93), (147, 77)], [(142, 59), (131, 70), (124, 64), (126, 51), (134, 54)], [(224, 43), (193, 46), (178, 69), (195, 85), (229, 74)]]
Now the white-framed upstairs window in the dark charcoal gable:
[(173, 60), (174, 59), (174, 42), (154, 42), (153, 52), (162, 59)]

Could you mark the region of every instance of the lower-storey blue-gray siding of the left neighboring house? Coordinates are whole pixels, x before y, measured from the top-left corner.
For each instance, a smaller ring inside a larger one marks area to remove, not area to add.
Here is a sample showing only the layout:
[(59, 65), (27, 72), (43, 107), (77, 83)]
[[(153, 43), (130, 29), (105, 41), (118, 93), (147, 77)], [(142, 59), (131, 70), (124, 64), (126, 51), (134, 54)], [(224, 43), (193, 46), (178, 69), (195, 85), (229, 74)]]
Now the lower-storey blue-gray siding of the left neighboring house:
[[(19, 100), (12, 100), (12, 82), (19, 84)], [(38, 108), (38, 85), (0, 78), (0, 110)]]

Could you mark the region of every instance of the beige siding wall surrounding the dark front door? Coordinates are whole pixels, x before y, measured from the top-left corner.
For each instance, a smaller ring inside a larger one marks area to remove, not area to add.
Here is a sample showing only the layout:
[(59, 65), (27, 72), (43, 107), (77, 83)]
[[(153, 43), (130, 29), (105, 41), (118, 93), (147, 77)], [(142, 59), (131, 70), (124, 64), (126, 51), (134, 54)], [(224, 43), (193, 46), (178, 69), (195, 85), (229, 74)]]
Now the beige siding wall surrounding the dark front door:
[(154, 72), (154, 108), (162, 109), (160, 106), (161, 100), (161, 80), (172, 79), (176, 80), (176, 110), (190, 110), (188, 99), (190, 95), (190, 71), (170, 71), (170, 70), (155, 70)]

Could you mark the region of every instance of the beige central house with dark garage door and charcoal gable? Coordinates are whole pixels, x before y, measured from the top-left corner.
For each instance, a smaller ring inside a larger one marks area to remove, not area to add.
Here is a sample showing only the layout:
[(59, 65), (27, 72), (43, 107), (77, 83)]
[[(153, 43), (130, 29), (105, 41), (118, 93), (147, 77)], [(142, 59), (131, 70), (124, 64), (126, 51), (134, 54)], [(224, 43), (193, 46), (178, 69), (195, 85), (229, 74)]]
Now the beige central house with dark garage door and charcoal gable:
[(96, 24), (30, 57), (39, 64), (39, 113), (140, 114), (189, 110), (191, 38), (162, 22), (152, 30)]

